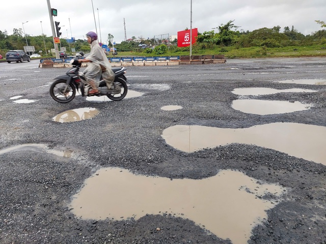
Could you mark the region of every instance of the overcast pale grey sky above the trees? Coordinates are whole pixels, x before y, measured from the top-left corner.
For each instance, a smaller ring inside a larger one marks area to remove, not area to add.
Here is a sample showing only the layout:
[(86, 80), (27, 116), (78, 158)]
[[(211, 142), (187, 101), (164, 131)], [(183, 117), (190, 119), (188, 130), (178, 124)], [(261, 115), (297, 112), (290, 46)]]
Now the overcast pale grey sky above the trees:
[[(92, 0), (50, 0), (50, 4), (58, 10), (53, 20), (65, 25), (63, 38), (83, 39), (87, 32), (96, 32), (96, 21), (99, 40), (106, 43), (110, 33), (120, 43), (125, 38), (124, 18), (127, 39), (177, 35), (191, 27), (191, 0), (93, 0), (94, 14)], [(43, 27), (43, 33), (52, 36), (47, 0), (2, 0), (1, 9), (0, 31), (12, 35), (14, 28), (24, 28), (25, 34), (39, 36)], [(326, 21), (325, 13), (325, 0), (192, 0), (192, 27), (203, 33), (234, 20), (239, 31), (279, 25), (283, 32), (293, 25), (308, 35), (322, 29), (315, 20)]]

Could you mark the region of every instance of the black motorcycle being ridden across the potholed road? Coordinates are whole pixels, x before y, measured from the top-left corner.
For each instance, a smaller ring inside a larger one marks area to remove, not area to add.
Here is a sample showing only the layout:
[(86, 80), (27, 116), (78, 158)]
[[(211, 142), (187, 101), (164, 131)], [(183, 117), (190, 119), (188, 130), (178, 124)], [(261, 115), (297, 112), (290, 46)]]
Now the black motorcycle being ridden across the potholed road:
[(79, 71), (82, 66), (77, 60), (72, 59), (70, 61), (72, 68), (66, 72), (65, 75), (61, 75), (55, 78), (50, 86), (51, 97), (59, 103), (68, 103), (72, 101), (76, 96), (76, 90), (80, 90), (83, 97), (91, 96), (107, 96), (107, 98), (113, 101), (122, 100), (128, 92), (127, 78), (125, 77), (126, 68), (113, 68), (115, 73), (115, 80), (113, 82), (114, 89), (108, 89), (104, 80), (99, 82), (99, 93), (88, 94), (91, 90), (91, 86), (84, 83), (86, 78), (82, 72)]

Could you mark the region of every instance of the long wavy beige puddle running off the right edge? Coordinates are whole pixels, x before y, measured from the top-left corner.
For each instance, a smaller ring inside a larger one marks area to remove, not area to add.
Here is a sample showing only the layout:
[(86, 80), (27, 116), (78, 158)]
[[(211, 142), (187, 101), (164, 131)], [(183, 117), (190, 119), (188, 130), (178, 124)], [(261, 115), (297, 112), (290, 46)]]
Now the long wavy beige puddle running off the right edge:
[(231, 143), (254, 144), (296, 158), (326, 165), (326, 127), (272, 123), (243, 129), (177, 125), (165, 129), (162, 138), (174, 148), (192, 153)]

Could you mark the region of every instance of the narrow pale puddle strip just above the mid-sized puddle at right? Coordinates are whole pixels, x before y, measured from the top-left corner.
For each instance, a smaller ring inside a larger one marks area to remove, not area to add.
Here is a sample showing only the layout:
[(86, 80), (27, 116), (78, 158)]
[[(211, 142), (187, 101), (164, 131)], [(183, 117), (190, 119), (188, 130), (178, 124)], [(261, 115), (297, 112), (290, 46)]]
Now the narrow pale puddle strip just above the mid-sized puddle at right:
[(301, 89), (301, 88), (293, 88), (293, 89), (274, 89), (267, 87), (252, 87), (252, 88), (235, 88), (232, 93), (236, 95), (242, 96), (261, 96), (261, 95), (271, 95), (277, 93), (315, 93), (317, 90), (310, 89)]

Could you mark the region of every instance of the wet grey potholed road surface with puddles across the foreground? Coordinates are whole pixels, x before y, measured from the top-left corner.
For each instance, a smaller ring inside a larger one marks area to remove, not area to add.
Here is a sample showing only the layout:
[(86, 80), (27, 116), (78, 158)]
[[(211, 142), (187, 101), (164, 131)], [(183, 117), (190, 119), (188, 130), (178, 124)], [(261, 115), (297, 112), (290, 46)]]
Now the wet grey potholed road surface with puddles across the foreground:
[(125, 99), (59, 104), (69, 68), (0, 64), (0, 242), (326, 243), (325, 65), (127, 67)]

